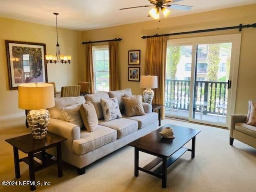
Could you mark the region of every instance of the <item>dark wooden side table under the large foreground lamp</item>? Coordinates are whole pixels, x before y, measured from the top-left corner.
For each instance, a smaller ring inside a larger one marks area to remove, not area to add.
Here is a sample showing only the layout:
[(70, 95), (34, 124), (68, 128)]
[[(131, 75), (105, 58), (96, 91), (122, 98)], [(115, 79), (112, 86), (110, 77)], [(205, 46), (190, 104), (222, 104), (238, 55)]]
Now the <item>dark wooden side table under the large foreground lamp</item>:
[[(32, 134), (6, 139), (5, 141), (13, 146), (16, 178), (20, 178), (20, 162), (23, 161), (28, 164), (30, 181), (35, 182), (35, 172), (51, 166), (54, 163), (45, 150), (55, 146), (57, 148), (58, 176), (62, 177), (61, 142), (65, 140), (67, 139), (51, 132), (48, 132), (47, 136), (43, 139), (35, 139)], [(19, 159), (18, 150), (28, 154), (28, 157)], [(35, 161), (34, 157), (40, 159), (42, 164)], [(35, 189), (36, 186), (30, 186), (30, 190), (33, 191)]]

